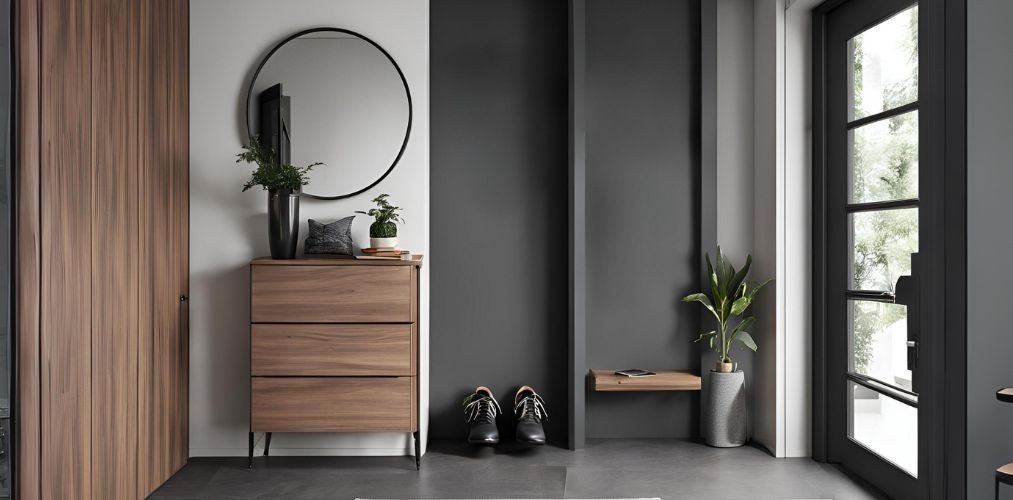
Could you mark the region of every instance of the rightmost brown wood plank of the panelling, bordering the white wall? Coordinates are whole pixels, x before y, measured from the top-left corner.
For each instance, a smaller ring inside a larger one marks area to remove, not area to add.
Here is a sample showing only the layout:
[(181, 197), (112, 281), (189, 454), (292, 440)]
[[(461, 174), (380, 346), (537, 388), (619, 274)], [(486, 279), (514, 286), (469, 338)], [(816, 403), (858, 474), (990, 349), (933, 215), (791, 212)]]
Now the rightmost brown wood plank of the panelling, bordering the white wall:
[(188, 4), (142, 7), (140, 494), (186, 462), (188, 347)]

